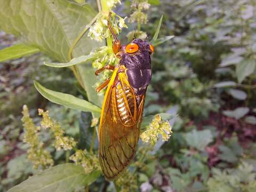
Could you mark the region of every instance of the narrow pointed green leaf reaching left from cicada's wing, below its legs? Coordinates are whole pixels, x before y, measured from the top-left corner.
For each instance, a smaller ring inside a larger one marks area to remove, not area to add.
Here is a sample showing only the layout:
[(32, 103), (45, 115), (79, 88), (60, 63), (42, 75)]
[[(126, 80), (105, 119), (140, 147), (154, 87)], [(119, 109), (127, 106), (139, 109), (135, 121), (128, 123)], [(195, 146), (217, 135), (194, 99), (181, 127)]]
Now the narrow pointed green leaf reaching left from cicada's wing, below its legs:
[(82, 111), (91, 111), (100, 116), (101, 108), (93, 105), (92, 103), (85, 101), (80, 98), (76, 98), (73, 95), (60, 93), (57, 91), (52, 91), (46, 89), (44, 86), (34, 81), (34, 85), (39, 93), (43, 95), (46, 99), (51, 102), (57, 103), (59, 105), (63, 105), (72, 109), (82, 110)]

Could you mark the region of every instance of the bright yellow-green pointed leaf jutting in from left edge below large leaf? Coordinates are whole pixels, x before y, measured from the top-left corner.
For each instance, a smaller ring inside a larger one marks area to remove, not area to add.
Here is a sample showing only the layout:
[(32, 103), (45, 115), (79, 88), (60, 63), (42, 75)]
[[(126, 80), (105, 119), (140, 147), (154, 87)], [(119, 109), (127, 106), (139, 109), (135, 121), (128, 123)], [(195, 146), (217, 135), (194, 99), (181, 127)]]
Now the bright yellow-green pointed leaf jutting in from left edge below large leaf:
[(20, 43), (0, 50), (0, 62), (18, 59), (26, 55), (34, 54), (40, 50), (33, 46)]

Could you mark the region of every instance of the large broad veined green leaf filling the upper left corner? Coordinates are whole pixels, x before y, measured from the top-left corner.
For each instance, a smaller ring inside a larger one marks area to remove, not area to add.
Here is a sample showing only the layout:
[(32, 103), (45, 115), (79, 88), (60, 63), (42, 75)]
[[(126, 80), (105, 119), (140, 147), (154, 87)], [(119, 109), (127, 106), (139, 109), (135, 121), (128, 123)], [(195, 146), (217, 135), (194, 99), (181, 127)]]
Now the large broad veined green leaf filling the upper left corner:
[[(68, 51), (88, 23), (97, 14), (89, 4), (83, 6), (64, 0), (0, 0), (0, 28), (21, 37), (54, 60), (68, 62)], [(101, 44), (87, 34), (77, 43), (74, 57), (88, 55)], [(92, 87), (97, 81), (90, 65), (74, 67), (89, 101), (101, 106), (102, 98)]]

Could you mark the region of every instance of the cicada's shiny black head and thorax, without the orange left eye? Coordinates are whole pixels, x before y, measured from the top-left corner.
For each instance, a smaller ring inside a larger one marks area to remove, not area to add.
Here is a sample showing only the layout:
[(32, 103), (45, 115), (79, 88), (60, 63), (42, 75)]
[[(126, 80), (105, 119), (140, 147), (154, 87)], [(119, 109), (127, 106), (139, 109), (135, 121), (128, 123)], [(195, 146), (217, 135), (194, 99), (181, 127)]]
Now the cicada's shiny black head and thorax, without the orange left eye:
[(139, 46), (135, 53), (126, 53), (125, 46), (122, 47), (120, 65), (126, 67), (125, 73), (132, 86), (135, 95), (145, 94), (147, 86), (151, 81), (151, 58), (150, 47), (142, 39), (134, 39), (132, 43)]

